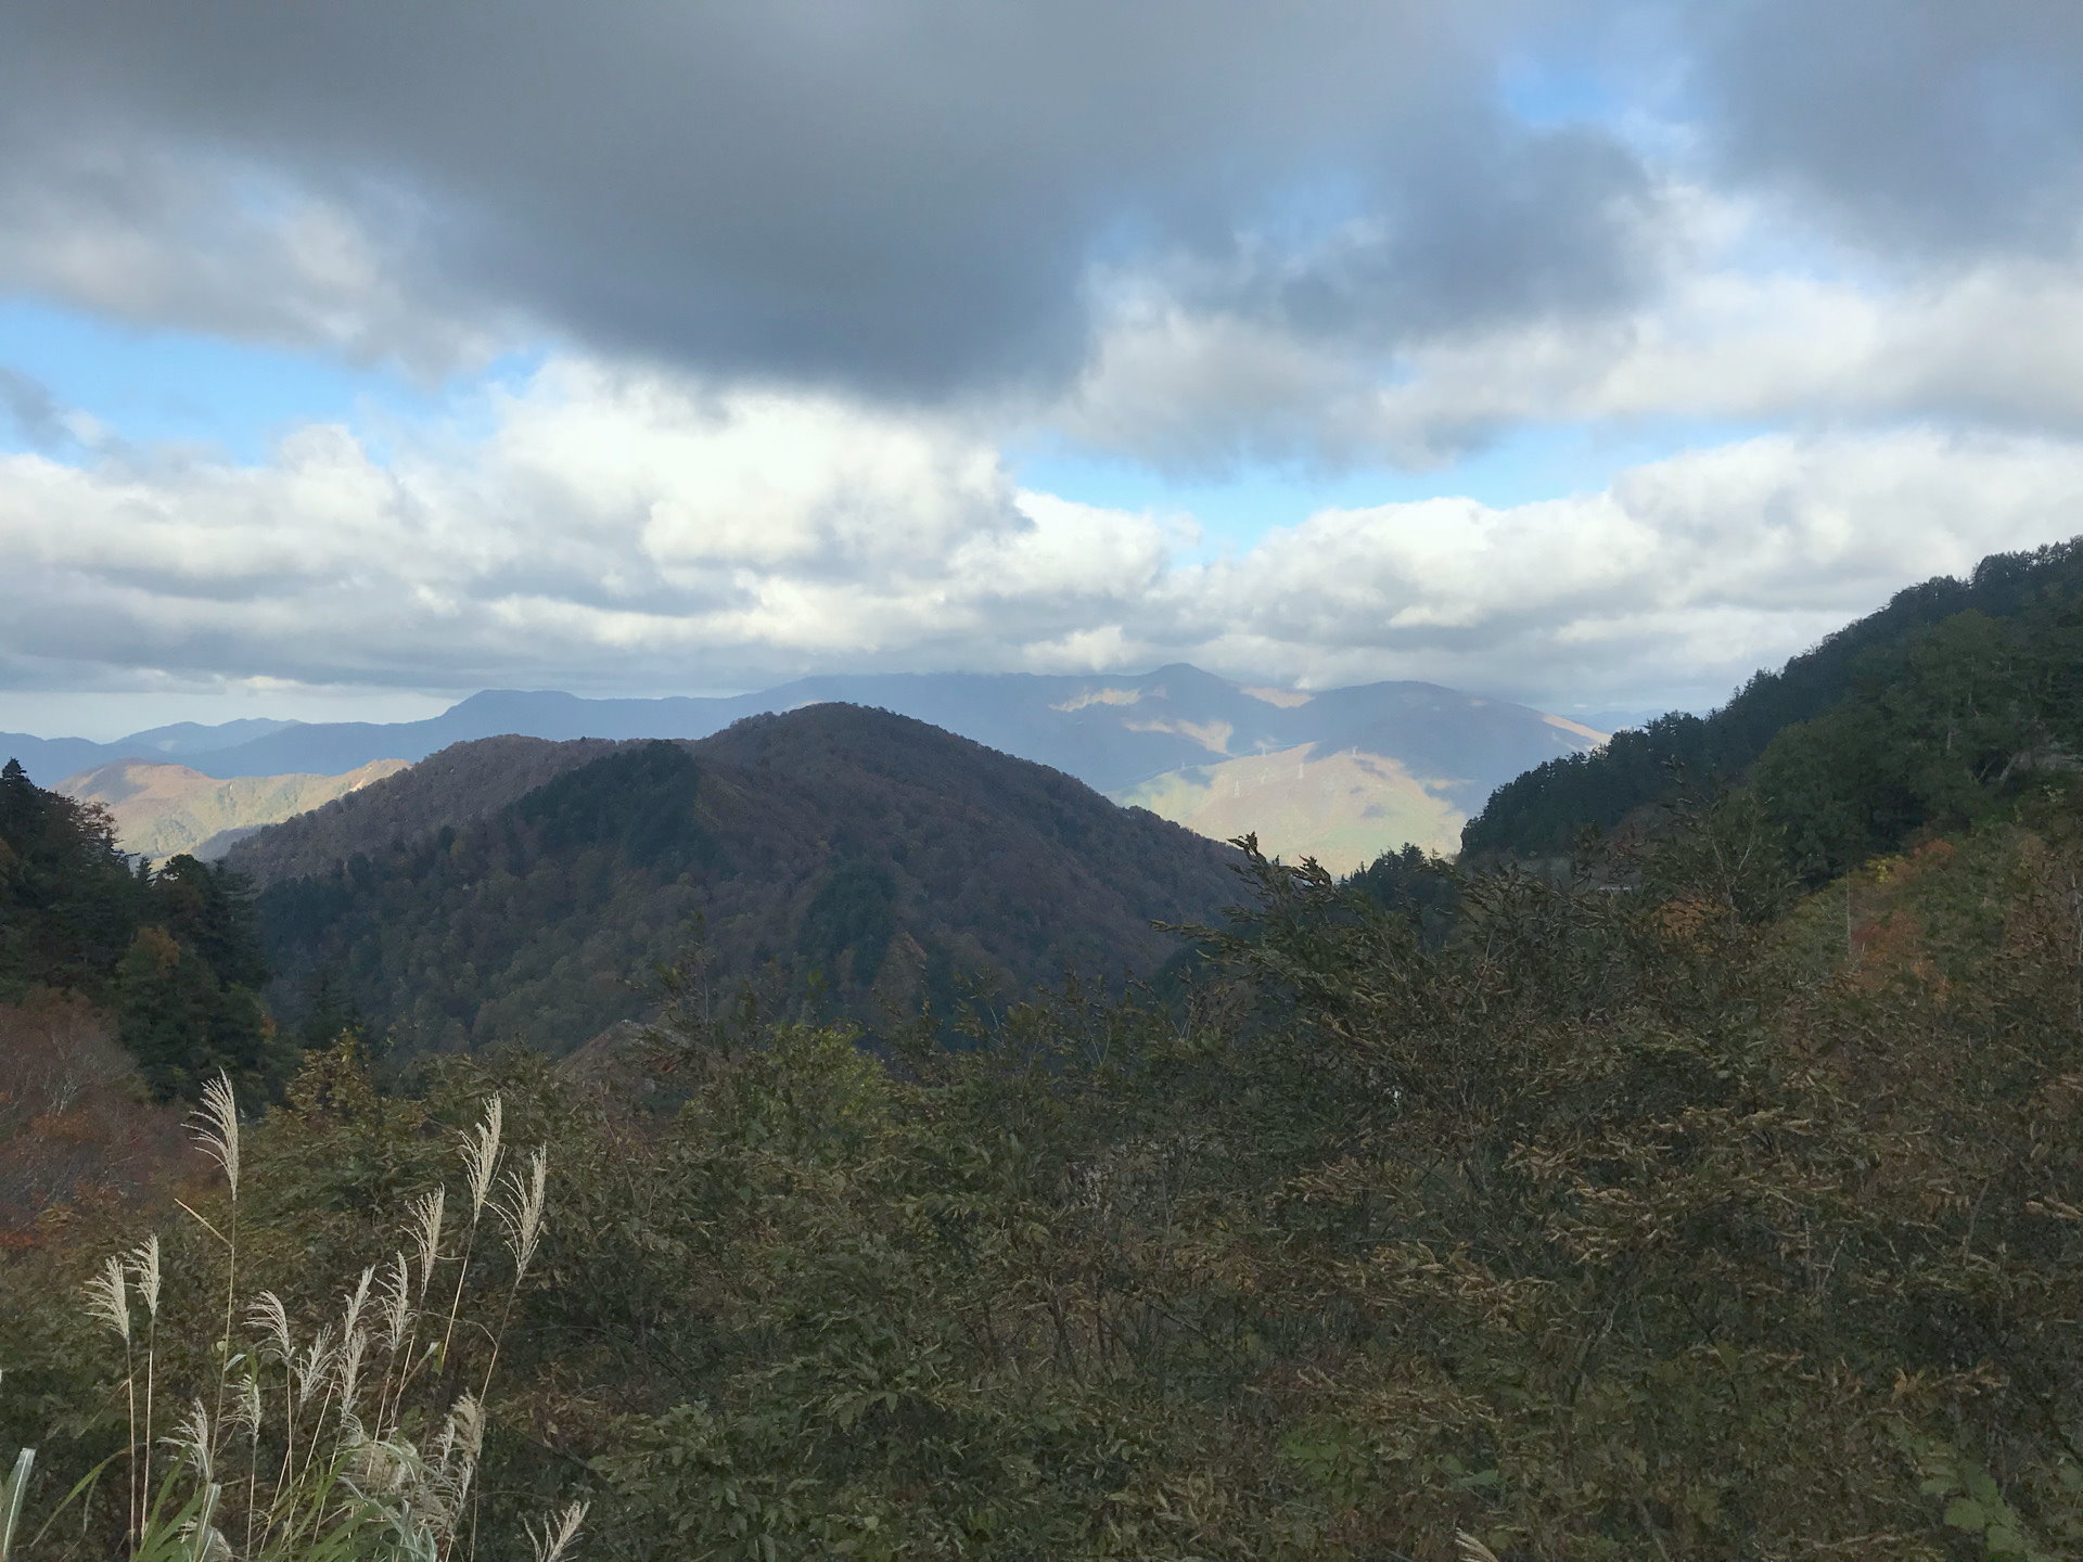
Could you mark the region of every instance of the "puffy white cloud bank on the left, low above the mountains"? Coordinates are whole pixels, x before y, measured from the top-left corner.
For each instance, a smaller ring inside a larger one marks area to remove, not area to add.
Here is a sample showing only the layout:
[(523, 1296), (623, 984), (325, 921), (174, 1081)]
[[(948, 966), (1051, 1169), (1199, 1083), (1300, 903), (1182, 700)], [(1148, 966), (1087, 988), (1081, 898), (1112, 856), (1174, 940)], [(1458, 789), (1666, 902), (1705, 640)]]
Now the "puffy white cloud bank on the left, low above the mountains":
[[(954, 425), (560, 360), (475, 446), (379, 464), (337, 425), (267, 464), (0, 458), (19, 658), (192, 677), (744, 685), (971, 656), (1121, 614), (1150, 519), (1019, 494)], [(896, 662), (892, 662), (896, 658)]]

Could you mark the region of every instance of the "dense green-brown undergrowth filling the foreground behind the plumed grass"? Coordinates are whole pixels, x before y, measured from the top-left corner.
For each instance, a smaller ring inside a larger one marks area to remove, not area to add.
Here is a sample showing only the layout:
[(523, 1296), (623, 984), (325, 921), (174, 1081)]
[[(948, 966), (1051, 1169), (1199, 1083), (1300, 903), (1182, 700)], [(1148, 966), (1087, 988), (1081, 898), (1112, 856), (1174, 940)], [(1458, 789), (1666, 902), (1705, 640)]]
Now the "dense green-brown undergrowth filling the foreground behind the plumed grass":
[[(246, 1125), (240, 1295), (340, 1339), (496, 1095), (548, 1216), (519, 1283), (479, 1245), (510, 1318), (406, 1429), (490, 1379), (442, 1554), (579, 1500), (573, 1556), (631, 1560), (2075, 1556), (2079, 821), (2035, 783), (1814, 891), (1743, 796), (1585, 881), (1254, 860), (1183, 1004), (869, 1052), (683, 989), (635, 1093), (523, 1052), (379, 1087), (344, 1039)], [(227, 1360), (229, 1200), (190, 1202), (162, 1395)], [(79, 1287), (140, 1218), (0, 1268), (25, 1522), (102, 1472), (37, 1558), (127, 1522)]]

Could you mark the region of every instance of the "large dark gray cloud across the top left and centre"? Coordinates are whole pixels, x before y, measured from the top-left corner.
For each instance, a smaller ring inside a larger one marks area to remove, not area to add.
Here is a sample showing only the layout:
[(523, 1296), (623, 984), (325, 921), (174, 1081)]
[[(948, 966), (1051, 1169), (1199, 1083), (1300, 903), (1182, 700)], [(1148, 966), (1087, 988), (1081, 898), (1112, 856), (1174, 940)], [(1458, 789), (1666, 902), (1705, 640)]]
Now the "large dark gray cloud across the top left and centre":
[[(0, 267), (360, 352), (504, 308), (898, 396), (1071, 375), (1091, 264), (1123, 252), (1319, 333), (1604, 306), (1641, 283), (1648, 183), (1496, 104), (1533, 8), (29, 0), (0, 48)], [(1266, 240), (1298, 190), (1344, 194)], [(1252, 235), (1271, 267), (1239, 273)]]

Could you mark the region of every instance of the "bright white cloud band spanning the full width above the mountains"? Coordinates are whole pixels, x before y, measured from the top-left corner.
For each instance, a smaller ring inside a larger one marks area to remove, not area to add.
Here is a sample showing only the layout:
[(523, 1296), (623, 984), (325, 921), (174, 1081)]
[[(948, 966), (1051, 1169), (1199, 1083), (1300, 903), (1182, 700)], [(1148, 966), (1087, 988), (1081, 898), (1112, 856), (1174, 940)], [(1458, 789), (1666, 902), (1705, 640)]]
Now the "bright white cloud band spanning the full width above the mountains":
[[(1212, 562), (1023, 492), (952, 419), (558, 360), (377, 462), (0, 460), (0, 660), (108, 685), (752, 687), (1187, 658), (1564, 706), (1704, 704), (1916, 579), (2083, 531), (2083, 444), (1773, 435), (1591, 496), (1325, 510)], [(87, 677), (90, 669), (100, 669)]]

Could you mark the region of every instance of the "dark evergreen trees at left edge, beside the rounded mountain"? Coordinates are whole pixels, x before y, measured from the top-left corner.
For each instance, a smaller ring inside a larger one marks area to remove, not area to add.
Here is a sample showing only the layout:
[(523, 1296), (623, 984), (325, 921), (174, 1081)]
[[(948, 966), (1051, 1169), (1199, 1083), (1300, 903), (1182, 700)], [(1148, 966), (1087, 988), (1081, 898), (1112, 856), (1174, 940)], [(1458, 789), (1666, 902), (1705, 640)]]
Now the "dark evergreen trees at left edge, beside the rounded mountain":
[(104, 810), (0, 769), (0, 1002), (79, 993), (115, 1016), (160, 1098), (219, 1070), (265, 1093), (296, 1066), (260, 1000), (267, 975), (235, 873), (133, 862)]

